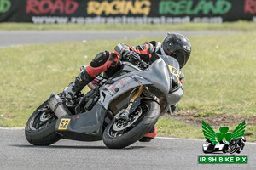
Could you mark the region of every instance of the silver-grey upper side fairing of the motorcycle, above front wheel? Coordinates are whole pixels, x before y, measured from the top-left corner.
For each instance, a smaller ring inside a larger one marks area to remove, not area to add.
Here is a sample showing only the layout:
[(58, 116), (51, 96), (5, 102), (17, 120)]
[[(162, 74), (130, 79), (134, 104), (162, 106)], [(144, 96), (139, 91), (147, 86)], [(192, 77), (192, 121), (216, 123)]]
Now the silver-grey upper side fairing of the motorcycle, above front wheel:
[[(127, 69), (129, 65), (125, 66)], [(144, 71), (134, 70), (128, 72), (120, 77), (113, 78), (113, 84), (103, 85), (101, 87), (103, 95), (101, 95), (100, 101), (108, 109), (108, 105), (119, 95), (141, 85), (152, 85), (159, 88), (163, 93), (168, 94), (171, 83), (169, 77), (169, 70), (165, 62), (163, 59), (157, 59)]]

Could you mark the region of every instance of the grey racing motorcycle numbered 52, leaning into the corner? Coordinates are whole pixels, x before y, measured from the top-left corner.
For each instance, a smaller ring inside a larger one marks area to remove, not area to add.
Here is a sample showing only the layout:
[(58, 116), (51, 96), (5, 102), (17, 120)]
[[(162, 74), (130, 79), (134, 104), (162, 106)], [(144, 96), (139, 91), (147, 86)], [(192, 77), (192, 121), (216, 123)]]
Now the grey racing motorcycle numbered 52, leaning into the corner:
[(149, 66), (123, 62), (113, 77), (96, 77), (90, 91), (77, 94), (72, 104), (53, 93), (28, 119), (26, 139), (34, 145), (103, 139), (108, 148), (125, 148), (142, 139), (161, 115), (172, 113), (171, 105), (183, 95), (179, 68), (170, 56)]

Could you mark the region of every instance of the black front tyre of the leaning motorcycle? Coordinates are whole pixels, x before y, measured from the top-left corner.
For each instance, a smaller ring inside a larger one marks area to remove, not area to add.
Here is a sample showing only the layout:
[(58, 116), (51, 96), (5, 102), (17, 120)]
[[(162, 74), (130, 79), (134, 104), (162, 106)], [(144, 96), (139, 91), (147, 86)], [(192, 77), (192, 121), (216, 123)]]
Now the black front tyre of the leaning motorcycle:
[(110, 149), (121, 149), (137, 142), (154, 127), (160, 116), (160, 105), (154, 100), (142, 100), (138, 108), (142, 109), (143, 114), (134, 122), (131, 127), (123, 131), (113, 130), (114, 121), (110, 122), (103, 133), (103, 142)]

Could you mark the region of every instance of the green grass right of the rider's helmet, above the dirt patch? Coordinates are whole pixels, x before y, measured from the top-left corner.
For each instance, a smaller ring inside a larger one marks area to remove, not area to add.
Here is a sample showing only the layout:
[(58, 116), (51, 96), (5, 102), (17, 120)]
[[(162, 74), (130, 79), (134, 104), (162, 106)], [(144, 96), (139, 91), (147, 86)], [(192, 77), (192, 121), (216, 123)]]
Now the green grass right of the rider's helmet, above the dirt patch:
[(255, 33), (191, 37), (182, 110), (253, 116), (256, 112)]

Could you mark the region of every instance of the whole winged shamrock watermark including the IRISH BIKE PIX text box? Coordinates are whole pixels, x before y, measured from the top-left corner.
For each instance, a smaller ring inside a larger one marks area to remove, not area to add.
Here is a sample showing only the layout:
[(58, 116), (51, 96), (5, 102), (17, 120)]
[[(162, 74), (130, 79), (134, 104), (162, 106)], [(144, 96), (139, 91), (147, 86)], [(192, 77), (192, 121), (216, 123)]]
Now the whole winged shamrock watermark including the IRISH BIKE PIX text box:
[(246, 122), (241, 122), (232, 133), (229, 127), (220, 127), (219, 132), (215, 133), (207, 122), (202, 121), (202, 132), (207, 139), (202, 145), (204, 153), (230, 153), (232, 155), (202, 155), (198, 156), (198, 163), (247, 163), (247, 156), (237, 156), (243, 150), (246, 142), (244, 137)]

